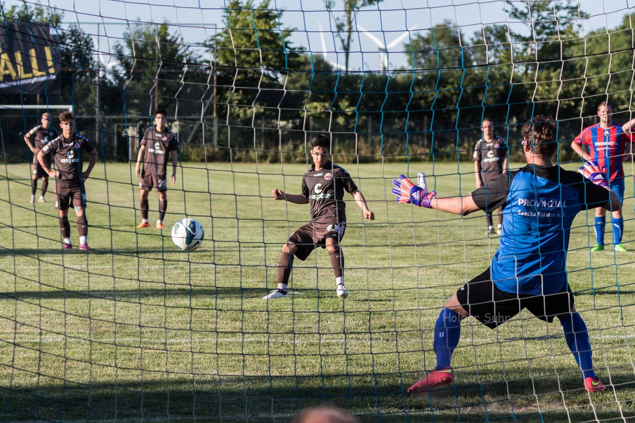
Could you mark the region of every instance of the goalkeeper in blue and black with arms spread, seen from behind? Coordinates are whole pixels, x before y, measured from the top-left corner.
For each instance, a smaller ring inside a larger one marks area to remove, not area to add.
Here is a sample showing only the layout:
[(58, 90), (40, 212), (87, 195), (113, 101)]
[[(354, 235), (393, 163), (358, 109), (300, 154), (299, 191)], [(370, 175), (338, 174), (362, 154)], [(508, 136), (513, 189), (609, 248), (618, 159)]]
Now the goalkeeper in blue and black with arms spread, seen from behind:
[(566, 343), (582, 370), (585, 389), (606, 389), (593, 370), (587, 327), (573, 307), (566, 251), (578, 212), (594, 207), (618, 211), (620, 200), (596, 163), (585, 162), (580, 167), (584, 176), (552, 164), (558, 150), (556, 130), (551, 117), (536, 116), (526, 122), (521, 134), (527, 166), (497, 176), (486, 190), (478, 188), (467, 197), (436, 197), (435, 192), (427, 191), (425, 176), (419, 185), (403, 175), (394, 180), (392, 192), (403, 203), (462, 215), (503, 207), (500, 244), (490, 267), (465, 283), (441, 309), (434, 327), (436, 368), (408, 393), (452, 383), (450, 358), (463, 318), (474, 316), (495, 329), (523, 308), (546, 322), (558, 317)]

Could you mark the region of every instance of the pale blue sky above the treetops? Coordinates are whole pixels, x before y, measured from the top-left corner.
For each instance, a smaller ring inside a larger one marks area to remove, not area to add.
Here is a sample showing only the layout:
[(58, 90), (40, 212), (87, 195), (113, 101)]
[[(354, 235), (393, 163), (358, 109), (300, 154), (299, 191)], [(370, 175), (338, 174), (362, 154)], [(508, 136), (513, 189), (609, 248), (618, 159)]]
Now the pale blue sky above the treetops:
[[(271, 7), (285, 10), (283, 27), (296, 30), (291, 41), (296, 46), (324, 55), (330, 62), (344, 64), (344, 55), (339, 42), (331, 32), (333, 20), (326, 11), (324, 0), (270, 0)], [(341, 15), (342, 3), (335, 0), (335, 15)], [(557, 0), (561, 1), (561, 0)], [(5, 0), (5, 7), (21, 3)], [(27, 3), (34, 3), (27, 0)], [(121, 39), (129, 23), (168, 22), (175, 25), (187, 44), (204, 41), (215, 30), (223, 26), (224, 0), (39, 0), (43, 6), (64, 11), (64, 22), (77, 22), (84, 32), (94, 36), (101, 58), (109, 61), (109, 51)], [(518, 0), (519, 4), (525, 3)], [(260, 1), (252, 2), (260, 4)], [(591, 15), (582, 21), (584, 32), (611, 29), (622, 21), (624, 15), (635, 7), (635, 0), (573, 0), (580, 9)], [(574, 17), (574, 16), (572, 16)], [(368, 6), (356, 15), (359, 32), (354, 32), (350, 65), (354, 70), (378, 70), (382, 68), (379, 44), (391, 44), (395, 39), (412, 29), (410, 35), (423, 32), (449, 19), (471, 36), (493, 23), (509, 23), (502, 0), (384, 0), (378, 5)], [(417, 25), (415, 27), (415, 25)], [(635, 22), (634, 22), (635, 25)], [(413, 29), (414, 27), (414, 29)], [(322, 30), (321, 30), (322, 29)], [(368, 32), (365, 33), (361, 29)], [(372, 37), (375, 37), (373, 41)], [(99, 34), (99, 36), (98, 36)], [(322, 41), (322, 39), (324, 41)], [(406, 65), (406, 55), (400, 51), (408, 35), (389, 49), (389, 67)]]

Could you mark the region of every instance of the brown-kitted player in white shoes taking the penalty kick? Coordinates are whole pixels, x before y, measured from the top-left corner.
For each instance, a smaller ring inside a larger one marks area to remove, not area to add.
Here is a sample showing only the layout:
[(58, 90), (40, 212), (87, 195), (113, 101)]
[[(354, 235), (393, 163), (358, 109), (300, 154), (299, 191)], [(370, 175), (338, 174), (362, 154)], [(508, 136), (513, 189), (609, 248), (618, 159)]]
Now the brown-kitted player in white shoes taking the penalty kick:
[(286, 298), (287, 284), (291, 274), (293, 256), (305, 260), (316, 247), (326, 248), (331, 258), (335, 274), (337, 296), (346, 298), (349, 292), (344, 286), (344, 255), (340, 241), (346, 230), (346, 204), (344, 190), (350, 193), (364, 212), (364, 218), (375, 220), (375, 214), (368, 210), (364, 195), (358, 190), (349, 172), (332, 164), (330, 158), (331, 141), (324, 135), (317, 135), (311, 141), (313, 164), (302, 178), (302, 193), (287, 194), (273, 190), (272, 197), (295, 204), (311, 204), (311, 221), (295, 231), (284, 243), (277, 268), (277, 289), (262, 299)]

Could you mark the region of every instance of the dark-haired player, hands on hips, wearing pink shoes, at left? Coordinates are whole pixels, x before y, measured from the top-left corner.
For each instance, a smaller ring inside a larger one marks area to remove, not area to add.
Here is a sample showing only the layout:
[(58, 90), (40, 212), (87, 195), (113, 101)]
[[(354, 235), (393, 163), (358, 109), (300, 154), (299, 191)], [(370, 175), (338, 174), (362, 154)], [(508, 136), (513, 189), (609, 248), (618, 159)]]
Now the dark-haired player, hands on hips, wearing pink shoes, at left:
[[(88, 138), (75, 133), (73, 112), (66, 111), (59, 115), (62, 135), (43, 146), (37, 153), (37, 161), (42, 169), (55, 177), (55, 195), (57, 195), (58, 216), (62, 231), (62, 248), (71, 249), (69, 205), (72, 202), (77, 215), (77, 233), (79, 234), (79, 248), (90, 250), (88, 247), (88, 219), (86, 219), (86, 191), (84, 180), (97, 162), (97, 151)], [(55, 171), (46, 162), (46, 155), (53, 153)], [(84, 153), (90, 154), (90, 162), (83, 171)]]

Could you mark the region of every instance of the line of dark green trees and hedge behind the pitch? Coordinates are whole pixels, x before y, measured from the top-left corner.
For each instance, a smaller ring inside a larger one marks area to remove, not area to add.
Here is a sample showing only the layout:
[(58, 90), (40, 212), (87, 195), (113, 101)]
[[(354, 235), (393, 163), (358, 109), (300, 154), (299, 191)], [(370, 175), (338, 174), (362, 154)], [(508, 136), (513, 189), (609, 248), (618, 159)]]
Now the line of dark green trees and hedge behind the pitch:
[[(381, 0), (327, 0), (339, 48), (348, 56), (354, 15)], [(466, 34), (446, 20), (412, 34), (407, 67), (346, 72), (295, 45), (297, 30), (269, 0), (231, 0), (222, 28), (187, 44), (168, 21), (132, 23), (114, 44), (117, 65), (104, 69), (93, 39), (77, 25), (60, 31), (62, 94), (76, 114), (101, 124), (147, 122), (156, 108), (178, 120), (189, 159), (305, 161), (305, 143), (328, 132), (340, 161), (458, 160), (478, 140), (483, 117), (518, 144), (531, 115), (559, 122), (561, 160), (599, 102), (629, 119), (634, 49), (631, 16), (584, 32), (587, 14), (571, 0), (506, 0), (511, 25)], [(55, 9), (23, 3), (2, 9), (5, 21), (61, 27)], [(7, 102), (34, 103), (25, 94)], [(40, 99), (41, 101), (42, 99)], [(90, 126), (90, 124), (86, 124)], [(102, 127), (96, 127), (103, 129)], [(519, 153), (519, 148), (518, 148)]]

